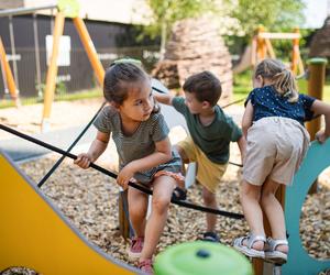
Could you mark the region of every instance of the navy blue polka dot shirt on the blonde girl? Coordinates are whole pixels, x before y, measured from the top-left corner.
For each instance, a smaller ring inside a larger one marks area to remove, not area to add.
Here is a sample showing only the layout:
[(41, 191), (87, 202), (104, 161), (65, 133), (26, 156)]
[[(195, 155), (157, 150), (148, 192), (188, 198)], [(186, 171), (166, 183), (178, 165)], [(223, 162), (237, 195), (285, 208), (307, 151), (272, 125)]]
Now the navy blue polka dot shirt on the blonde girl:
[(304, 121), (314, 117), (310, 107), (315, 98), (299, 94), (297, 102), (289, 102), (287, 97), (280, 96), (273, 86), (265, 86), (253, 89), (246, 101), (251, 100), (254, 109), (253, 121), (267, 117), (284, 117), (298, 121), (304, 125)]

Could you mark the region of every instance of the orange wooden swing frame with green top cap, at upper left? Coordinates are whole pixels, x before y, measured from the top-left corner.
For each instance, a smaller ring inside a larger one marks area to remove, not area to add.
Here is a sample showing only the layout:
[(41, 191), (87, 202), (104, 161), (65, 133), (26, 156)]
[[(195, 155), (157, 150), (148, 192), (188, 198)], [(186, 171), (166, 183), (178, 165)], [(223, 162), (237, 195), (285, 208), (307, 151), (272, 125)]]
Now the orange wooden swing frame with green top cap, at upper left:
[[(81, 18), (79, 18), (79, 6), (76, 1), (59, 0), (56, 6), (46, 6), (32, 9), (12, 9), (0, 11), (0, 16), (13, 16), (19, 14), (30, 14), (40, 10), (56, 10), (54, 31), (53, 31), (53, 46), (50, 65), (46, 74), (46, 86), (44, 91), (44, 107), (42, 114), (42, 131), (50, 130), (50, 118), (52, 111), (52, 102), (54, 100), (54, 92), (56, 86), (57, 76), (57, 57), (59, 52), (59, 40), (63, 35), (65, 18), (72, 18), (74, 25), (79, 34), (84, 48), (87, 53), (88, 59), (96, 74), (97, 80), (100, 86), (103, 86), (105, 68), (102, 67), (92, 40), (87, 31), (87, 28)], [(16, 88), (13, 74), (11, 72), (4, 46), (0, 37), (0, 61), (3, 73), (4, 87), (9, 90), (12, 100), (14, 100), (16, 107), (20, 106), (19, 90)]]

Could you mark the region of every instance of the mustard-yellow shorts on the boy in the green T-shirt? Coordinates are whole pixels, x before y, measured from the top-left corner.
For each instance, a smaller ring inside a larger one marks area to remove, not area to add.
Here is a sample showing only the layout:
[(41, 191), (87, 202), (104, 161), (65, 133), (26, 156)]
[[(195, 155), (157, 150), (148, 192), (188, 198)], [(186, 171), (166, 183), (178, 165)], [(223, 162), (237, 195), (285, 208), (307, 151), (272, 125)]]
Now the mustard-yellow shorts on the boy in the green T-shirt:
[(186, 140), (177, 143), (176, 145), (185, 152), (189, 162), (197, 163), (196, 179), (210, 193), (216, 194), (228, 164), (217, 164), (211, 162), (194, 143), (190, 136), (187, 136)]

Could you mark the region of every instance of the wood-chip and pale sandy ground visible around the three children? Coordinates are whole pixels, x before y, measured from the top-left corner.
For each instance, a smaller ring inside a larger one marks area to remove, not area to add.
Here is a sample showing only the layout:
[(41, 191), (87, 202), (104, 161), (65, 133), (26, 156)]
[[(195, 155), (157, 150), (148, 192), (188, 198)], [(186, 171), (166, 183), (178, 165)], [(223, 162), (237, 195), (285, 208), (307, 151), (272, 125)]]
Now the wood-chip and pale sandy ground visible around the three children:
[[(55, 102), (53, 105), (51, 127), (66, 128), (87, 123), (101, 105), (101, 100), (78, 102)], [(227, 109), (237, 111), (241, 107)], [(16, 110), (0, 110), (0, 123), (14, 127), (25, 133), (40, 131), (42, 106), (28, 106)], [(84, 114), (84, 116), (81, 116)], [(182, 130), (175, 129), (170, 135), (173, 143), (184, 138)], [(0, 139), (9, 139), (0, 131)], [(113, 153), (113, 146), (110, 147)], [(240, 162), (237, 145), (232, 145), (231, 161)], [(52, 167), (58, 155), (21, 164), (21, 168), (34, 180), (38, 182)], [(100, 165), (116, 168), (108, 160), (101, 160)], [(229, 166), (223, 182), (219, 186), (219, 208), (242, 212), (239, 204), (240, 172), (235, 166)], [(326, 169), (319, 177), (320, 191), (308, 196), (301, 211), (300, 234), (302, 243), (310, 255), (317, 258), (330, 257), (330, 169)], [(57, 205), (69, 220), (96, 245), (105, 252), (129, 262), (125, 254), (128, 243), (120, 237), (118, 229), (118, 193), (114, 180), (100, 173), (82, 170), (65, 161), (42, 187), (43, 191)], [(201, 189), (193, 186), (188, 199), (201, 204)], [(205, 216), (189, 209), (170, 206), (168, 222), (161, 239), (158, 251), (174, 243), (196, 240), (205, 230)], [(217, 231), (223, 243), (230, 244), (235, 237), (248, 231), (246, 223), (229, 218), (219, 218)]]

